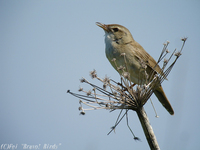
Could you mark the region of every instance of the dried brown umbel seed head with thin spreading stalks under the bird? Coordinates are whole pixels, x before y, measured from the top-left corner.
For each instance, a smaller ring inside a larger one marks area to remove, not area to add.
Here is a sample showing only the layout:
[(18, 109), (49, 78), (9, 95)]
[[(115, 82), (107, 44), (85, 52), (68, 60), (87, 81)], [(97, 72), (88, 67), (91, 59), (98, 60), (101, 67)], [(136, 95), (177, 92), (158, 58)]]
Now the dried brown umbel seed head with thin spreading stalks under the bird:
[[(120, 109), (121, 111), (117, 118), (117, 121), (115, 125), (111, 128), (111, 131), (113, 131), (122, 120), (122, 118), (128, 115), (129, 110), (133, 110), (138, 113), (138, 111), (143, 108), (143, 105), (145, 105), (146, 102), (149, 100), (152, 93), (154, 92), (154, 89), (159, 86), (165, 79), (167, 79), (167, 76), (172, 70), (174, 64), (181, 56), (181, 52), (187, 38), (182, 38), (181, 40), (183, 41), (183, 44), (180, 51), (177, 52), (177, 50), (175, 49), (169, 56), (169, 58), (166, 58), (167, 55), (170, 54), (169, 50), (167, 49), (169, 42), (166, 42), (164, 44), (163, 50), (156, 64), (158, 65), (163, 61), (163, 65), (161, 66), (162, 73), (146, 73), (147, 80), (145, 84), (135, 85), (134, 83), (130, 82), (130, 74), (126, 67), (126, 54), (122, 53), (121, 57), (124, 58), (125, 66), (116, 66), (116, 68), (118, 68), (121, 72), (121, 74), (119, 74), (119, 82), (114, 81), (107, 76), (105, 78), (100, 78), (98, 77), (96, 70), (93, 70), (90, 72), (90, 76), (92, 77), (92, 79), (99, 80), (101, 82), (100, 86), (92, 84), (85, 78), (82, 78), (80, 80), (81, 83), (86, 83), (90, 85), (91, 90), (85, 91), (82, 87), (80, 87), (78, 91), (81, 92), (81, 94), (73, 93), (70, 90), (68, 90), (67, 92), (79, 98), (79, 110), (81, 111), (82, 115), (85, 115), (85, 111), (87, 110), (106, 109), (114, 111)], [(169, 64), (172, 58), (174, 58), (174, 60), (171, 64)], [(115, 62), (116, 59), (113, 59), (112, 61)], [(145, 63), (141, 61), (141, 64), (145, 71)], [(123, 110), (125, 111), (124, 114), (122, 114)], [(130, 129), (129, 125), (128, 128)], [(130, 131), (133, 134), (131, 129)], [(137, 138), (134, 134), (133, 136), (135, 140), (139, 140), (139, 138)]]

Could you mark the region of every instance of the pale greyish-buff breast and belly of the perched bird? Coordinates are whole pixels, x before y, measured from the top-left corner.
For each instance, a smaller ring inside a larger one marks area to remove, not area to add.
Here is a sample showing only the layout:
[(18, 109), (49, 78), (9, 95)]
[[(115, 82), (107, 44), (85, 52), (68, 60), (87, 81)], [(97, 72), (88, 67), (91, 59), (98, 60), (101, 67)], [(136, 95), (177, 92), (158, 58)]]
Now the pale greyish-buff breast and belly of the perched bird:
[[(138, 62), (137, 57), (135, 57), (134, 51), (128, 45), (117, 45), (114, 42), (106, 43), (106, 57), (108, 58), (111, 65), (122, 74), (122, 70), (119, 67), (125, 67), (124, 71), (130, 73), (130, 79), (133, 83), (144, 84), (146, 81), (144, 69), (141, 68), (141, 64)], [(123, 55), (125, 54), (125, 56)], [(115, 61), (113, 61), (115, 58)]]

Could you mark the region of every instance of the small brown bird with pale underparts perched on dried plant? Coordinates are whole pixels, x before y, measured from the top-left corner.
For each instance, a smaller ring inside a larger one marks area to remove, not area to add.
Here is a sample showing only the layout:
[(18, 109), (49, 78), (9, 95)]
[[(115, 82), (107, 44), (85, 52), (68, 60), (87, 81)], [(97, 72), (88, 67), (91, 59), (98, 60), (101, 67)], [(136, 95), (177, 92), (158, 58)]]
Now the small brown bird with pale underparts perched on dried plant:
[[(96, 22), (96, 25), (105, 31), (105, 53), (107, 59), (120, 74), (122, 74), (122, 71), (118, 69), (119, 66), (126, 66), (132, 83), (145, 84), (147, 78), (152, 80), (152, 77), (148, 77), (152, 72), (165, 76), (157, 62), (134, 40), (126, 27), (119, 24), (103, 24), (99, 22)], [(126, 64), (122, 54), (125, 54)], [(166, 77), (164, 78), (166, 79)], [(156, 86), (153, 92), (165, 109), (171, 115), (174, 115), (174, 110), (161, 84)]]

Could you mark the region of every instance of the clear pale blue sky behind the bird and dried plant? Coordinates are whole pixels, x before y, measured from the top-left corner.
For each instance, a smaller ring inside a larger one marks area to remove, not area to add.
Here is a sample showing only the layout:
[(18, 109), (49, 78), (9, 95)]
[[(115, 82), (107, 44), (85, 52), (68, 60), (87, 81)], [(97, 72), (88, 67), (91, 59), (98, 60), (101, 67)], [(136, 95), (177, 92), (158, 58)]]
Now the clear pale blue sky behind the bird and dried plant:
[[(163, 43), (182, 56), (163, 83), (175, 115), (158, 100), (145, 110), (162, 150), (200, 149), (200, 1), (0, 1), (0, 144), (57, 144), (59, 150), (149, 149), (135, 112), (111, 133), (119, 111), (79, 115), (81, 77), (97, 70), (119, 80), (105, 56), (104, 32), (95, 22), (127, 27), (156, 60)], [(94, 81), (95, 82), (95, 81)], [(99, 84), (100, 85), (100, 84)]]

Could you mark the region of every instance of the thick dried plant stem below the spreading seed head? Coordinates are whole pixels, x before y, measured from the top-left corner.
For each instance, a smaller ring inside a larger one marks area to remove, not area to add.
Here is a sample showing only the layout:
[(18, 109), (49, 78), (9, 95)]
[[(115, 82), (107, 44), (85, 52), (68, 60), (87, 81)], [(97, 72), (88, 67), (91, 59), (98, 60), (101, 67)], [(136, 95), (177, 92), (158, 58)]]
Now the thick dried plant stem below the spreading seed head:
[(151, 150), (159, 150), (160, 148), (156, 140), (156, 136), (153, 132), (153, 128), (150, 125), (149, 119), (144, 108), (140, 107), (136, 112), (142, 125), (146, 139), (148, 141), (149, 147), (151, 148)]

